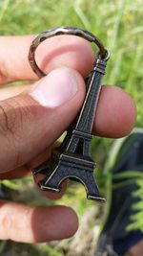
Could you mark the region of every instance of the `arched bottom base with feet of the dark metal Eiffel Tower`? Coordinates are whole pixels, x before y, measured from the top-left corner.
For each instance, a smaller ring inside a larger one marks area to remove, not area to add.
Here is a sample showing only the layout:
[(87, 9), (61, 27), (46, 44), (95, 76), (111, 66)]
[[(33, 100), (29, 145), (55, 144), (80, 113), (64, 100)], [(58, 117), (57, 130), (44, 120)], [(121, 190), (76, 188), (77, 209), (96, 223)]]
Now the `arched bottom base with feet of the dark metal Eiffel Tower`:
[(70, 167), (66, 166), (65, 168), (64, 165), (58, 166), (50, 176), (42, 179), (39, 182), (39, 186), (43, 190), (52, 190), (59, 192), (61, 189), (61, 183), (66, 178), (72, 178), (80, 181), (86, 188), (88, 199), (96, 199), (100, 201), (105, 200), (99, 195), (98, 187), (96, 185), (92, 172), (87, 172), (86, 170), (81, 171), (80, 169), (71, 170)]

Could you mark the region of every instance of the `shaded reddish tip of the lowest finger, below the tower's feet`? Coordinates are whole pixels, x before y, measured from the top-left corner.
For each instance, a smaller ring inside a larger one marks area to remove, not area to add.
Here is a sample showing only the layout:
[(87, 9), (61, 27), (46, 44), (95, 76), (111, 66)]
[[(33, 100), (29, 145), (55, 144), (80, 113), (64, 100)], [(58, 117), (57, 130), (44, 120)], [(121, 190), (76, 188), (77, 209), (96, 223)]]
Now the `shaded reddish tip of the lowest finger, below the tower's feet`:
[(48, 242), (70, 238), (78, 229), (78, 218), (70, 207), (36, 208), (32, 215), (34, 242)]

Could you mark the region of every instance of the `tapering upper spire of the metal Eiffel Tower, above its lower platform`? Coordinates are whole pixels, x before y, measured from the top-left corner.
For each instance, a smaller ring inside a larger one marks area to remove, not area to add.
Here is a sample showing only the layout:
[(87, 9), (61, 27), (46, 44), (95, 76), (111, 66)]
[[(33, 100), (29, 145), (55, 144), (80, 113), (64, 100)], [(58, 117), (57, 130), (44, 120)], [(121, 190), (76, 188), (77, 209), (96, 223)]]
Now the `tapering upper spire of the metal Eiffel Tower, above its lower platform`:
[[(106, 61), (98, 58), (96, 61), (96, 65), (89, 77), (89, 81), (87, 84), (88, 91), (84, 104), (82, 105), (78, 118), (76, 118), (76, 121), (74, 122), (74, 126), (72, 128), (71, 141), (67, 143), (67, 147), (66, 145), (64, 145), (66, 151), (75, 151), (75, 147), (77, 147), (77, 142), (75, 143), (75, 141), (77, 141), (78, 138), (78, 142), (80, 145), (83, 142), (82, 153), (84, 155), (91, 156), (90, 151), (92, 139), (92, 125), (101, 89), (101, 81), (103, 75), (105, 74), (105, 68)], [(67, 136), (69, 136), (69, 134)]]

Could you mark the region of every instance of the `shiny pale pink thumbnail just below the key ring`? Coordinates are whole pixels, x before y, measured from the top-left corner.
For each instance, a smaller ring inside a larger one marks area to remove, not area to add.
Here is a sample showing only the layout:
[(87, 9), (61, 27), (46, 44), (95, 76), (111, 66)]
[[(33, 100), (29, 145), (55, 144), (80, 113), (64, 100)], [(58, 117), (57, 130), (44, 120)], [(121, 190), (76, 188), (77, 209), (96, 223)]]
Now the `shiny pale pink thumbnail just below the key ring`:
[(78, 83), (72, 70), (58, 68), (37, 82), (31, 89), (31, 97), (40, 105), (63, 105), (77, 93)]

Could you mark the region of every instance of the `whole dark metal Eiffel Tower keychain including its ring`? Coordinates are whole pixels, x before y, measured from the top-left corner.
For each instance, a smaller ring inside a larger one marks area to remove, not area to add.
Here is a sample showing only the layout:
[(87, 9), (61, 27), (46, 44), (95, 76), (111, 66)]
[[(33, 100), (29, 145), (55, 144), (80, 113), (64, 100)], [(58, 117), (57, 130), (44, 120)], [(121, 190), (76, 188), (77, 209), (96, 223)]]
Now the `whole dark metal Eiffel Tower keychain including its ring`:
[[(95, 43), (98, 52), (93, 62), (93, 69), (86, 79), (87, 94), (81, 110), (67, 130), (67, 135), (61, 145), (51, 152), (51, 157), (46, 162), (32, 170), (33, 175), (44, 174), (39, 181), (42, 190), (59, 192), (62, 182), (71, 178), (81, 182), (86, 189), (88, 199), (105, 200), (99, 194), (93, 176), (95, 163), (92, 161), (92, 125), (97, 108), (101, 81), (105, 75), (106, 63), (110, 54), (99, 39), (91, 33), (74, 28), (60, 27), (43, 32), (31, 44), (29, 61), (31, 68), (43, 77), (46, 74), (38, 67), (35, 61), (35, 50), (44, 40), (55, 35), (77, 35)], [(68, 86), (68, 84), (67, 84)]]

